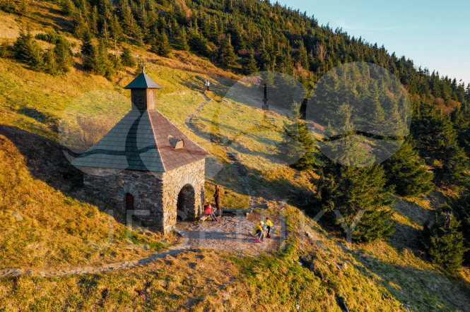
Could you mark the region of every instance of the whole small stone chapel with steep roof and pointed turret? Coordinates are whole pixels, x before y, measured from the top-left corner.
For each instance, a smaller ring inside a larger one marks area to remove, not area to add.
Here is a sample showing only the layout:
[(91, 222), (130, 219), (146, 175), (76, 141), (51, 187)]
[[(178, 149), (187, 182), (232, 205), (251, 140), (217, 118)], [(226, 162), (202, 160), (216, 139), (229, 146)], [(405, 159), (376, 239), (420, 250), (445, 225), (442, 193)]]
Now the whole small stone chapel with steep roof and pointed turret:
[(117, 212), (167, 233), (177, 216), (194, 220), (203, 213), (211, 154), (158, 112), (160, 88), (142, 68), (124, 88), (131, 90), (131, 110), (72, 164), (86, 172), (85, 186)]

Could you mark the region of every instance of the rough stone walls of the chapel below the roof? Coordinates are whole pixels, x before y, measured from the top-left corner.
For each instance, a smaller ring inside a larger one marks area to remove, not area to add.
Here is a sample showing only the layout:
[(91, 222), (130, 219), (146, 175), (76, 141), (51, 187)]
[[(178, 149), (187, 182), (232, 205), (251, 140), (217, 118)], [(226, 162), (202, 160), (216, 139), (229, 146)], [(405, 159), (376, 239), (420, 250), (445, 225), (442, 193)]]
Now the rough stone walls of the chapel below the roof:
[(203, 212), (204, 170), (205, 160), (169, 172), (86, 168), (83, 183), (95, 197), (122, 214), (126, 212), (125, 195), (131, 193), (136, 214), (133, 222), (167, 233), (176, 224), (178, 194), (187, 184), (194, 188), (194, 210), (178, 214), (182, 219), (194, 220)]

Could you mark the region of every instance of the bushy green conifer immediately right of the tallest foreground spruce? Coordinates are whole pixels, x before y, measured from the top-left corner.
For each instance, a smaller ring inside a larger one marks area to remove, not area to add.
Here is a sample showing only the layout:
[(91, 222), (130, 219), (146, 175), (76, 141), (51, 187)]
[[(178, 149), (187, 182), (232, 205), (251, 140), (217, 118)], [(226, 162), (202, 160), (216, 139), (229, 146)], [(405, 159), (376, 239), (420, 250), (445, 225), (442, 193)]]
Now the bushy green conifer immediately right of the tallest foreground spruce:
[(420, 196), (433, 190), (433, 173), (429, 172), (410, 143), (405, 142), (401, 148), (384, 162), (387, 172), (387, 185), (394, 186), (401, 196)]

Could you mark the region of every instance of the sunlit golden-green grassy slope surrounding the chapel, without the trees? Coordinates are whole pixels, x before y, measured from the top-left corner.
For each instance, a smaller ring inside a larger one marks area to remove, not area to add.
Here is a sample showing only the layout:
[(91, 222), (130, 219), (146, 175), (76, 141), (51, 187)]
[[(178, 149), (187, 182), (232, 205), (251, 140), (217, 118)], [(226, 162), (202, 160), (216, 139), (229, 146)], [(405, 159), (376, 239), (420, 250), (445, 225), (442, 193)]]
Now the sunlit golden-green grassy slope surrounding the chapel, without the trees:
[[(23, 17), (0, 12), (2, 39), (12, 40), (27, 23), (33, 33), (68, 29), (57, 6), (39, 1), (31, 6), (33, 13)], [(286, 217), (288, 241), (278, 253), (255, 258), (196, 250), (102, 274), (1, 279), (0, 311), (341, 311), (343, 303), (350, 311), (468, 310), (469, 270), (446, 275), (420, 253), (418, 238), (442, 194), (397, 198), (392, 206), (396, 232), (389, 241), (347, 246), (333, 229), (319, 227), (294, 206), (298, 194), (316, 191), (312, 178), (317, 176), (271, 157), (286, 139), (281, 131), (286, 116), (271, 112), (265, 119), (260, 109), (223, 101), (237, 76), (208, 59), (191, 52), (162, 58), (142, 47), (131, 49), (163, 86), (158, 110), (213, 154), (206, 194), (210, 197), (213, 184), (220, 184), (223, 206), (247, 208), (249, 197), (227, 155), (237, 152), (266, 206), (263, 211)], [(81, 59), (75, 61), (70, 73), (53, 77), (0, 59), (0, 269), (36, 271), (142, 258), (162, 250), (163, 239), (173, 239), (139, 229), (127, 236), (126, 227), (103, 212), (105, 205), (82, 189), (81, 172), (66, 160), (58, 131), (64, 114), (93, 116), (93, 97), (80, 101), (89, 92), (115, 92), (119, 104), (103, 96), (99, 108), (124, 114), (130, 92), (122, 88), (136, 73), (126, 68), (109, 81), (82, 71)], [(198, 75), (211, 80), (210, 102), (201, 95)], [(291, 205), (281, 203), (286, 198)]]

